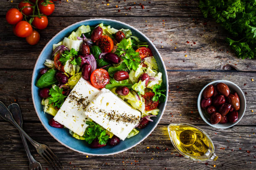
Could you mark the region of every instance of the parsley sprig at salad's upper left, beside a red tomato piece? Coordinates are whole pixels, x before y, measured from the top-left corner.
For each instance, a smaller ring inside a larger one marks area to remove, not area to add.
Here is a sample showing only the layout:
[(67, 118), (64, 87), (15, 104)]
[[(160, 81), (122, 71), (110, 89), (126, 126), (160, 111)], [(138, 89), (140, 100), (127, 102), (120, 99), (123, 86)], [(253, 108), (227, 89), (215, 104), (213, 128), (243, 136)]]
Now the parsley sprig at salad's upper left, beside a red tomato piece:
[(71, 50), (66, 50), (64, 53), (61, 55), (61, 58), (59, 61), (65, 65), (67, 61), (73, 58), (73, 60), (70, 62), (72, 65), (81, 65), (82, 59), (77, 56), (77, 51), (74, 48), (71, 48)]

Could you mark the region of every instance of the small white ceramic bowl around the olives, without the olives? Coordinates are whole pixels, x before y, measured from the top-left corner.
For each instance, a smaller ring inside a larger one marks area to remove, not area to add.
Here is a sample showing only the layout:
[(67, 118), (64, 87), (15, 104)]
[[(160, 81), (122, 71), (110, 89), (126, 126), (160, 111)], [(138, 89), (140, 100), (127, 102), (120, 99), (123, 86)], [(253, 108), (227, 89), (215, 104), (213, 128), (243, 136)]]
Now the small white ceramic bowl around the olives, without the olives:
[[(238, 96), (240, 98), (240, 109), (238, 110), (238, 120), (234, 123), (231, 123), (231, 122), (227, 122), (225, 124), (221, 124), (221, 123), (217, 123), (215, 125), (212, 125), (210, 123), (210, 116), (209, 114), (207, 113), (206, 110), (202, 109), (201, 106), (200, 106), (200, 102), (201, 102), (201, 99), (203, 98), (203, 91), (205, 90), (205, 88), (208, 86), (208, 85), (216, 85), (218, 84), (219, 82), (223, 82), (225, 83), (226, 85), (228, 85), (229, 89), (230, 89), (230, 92), (233, 94), (234, 92), (237, 92), (238, 93)], [(238, 85), (236, 85), (235, 83), (233, 82), (230, 82), (228, 80), (217, 80), (217, 81), (213, 81), (213, 82), (210, 82), (208, 83), (207, 85), (205, 85), (204, 88), (202, 88), (202, 90), (200, 91), (199, 95), (198, 95), (198, 98), (197, 98), (197, 108), (198, 108), (198, 112), (200, 114), (200, 116), (202, 117), (202, 119), (210, 126), (214, 127), (214, 128), (220, 128), (220, 129), (225, 129), (225, 128), (230, 128), (234, 125), (236, 125), (243, 117), (244, 115), (244, 112), (246, 110), (246, 98), (243, 94), (243, 91), (241, 90), (240, 87), (238, 87)]]

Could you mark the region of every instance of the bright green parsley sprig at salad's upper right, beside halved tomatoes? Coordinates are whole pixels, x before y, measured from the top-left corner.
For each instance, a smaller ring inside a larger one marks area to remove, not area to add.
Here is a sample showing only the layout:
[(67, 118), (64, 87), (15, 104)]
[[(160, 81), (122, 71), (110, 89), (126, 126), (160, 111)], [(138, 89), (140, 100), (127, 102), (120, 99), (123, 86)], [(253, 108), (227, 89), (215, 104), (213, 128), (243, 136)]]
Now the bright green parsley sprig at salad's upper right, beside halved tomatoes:
[(138, 65), (141, 63), (140, 53), (135, 52), (133, 47), (131, 47), (129, 44), (130, 42), (124, 38), (120, 43), (117, 44), (118, 48), (116, 49), (115, 53), (121, 56), (123, 62), (130, 70), (137, 70)]

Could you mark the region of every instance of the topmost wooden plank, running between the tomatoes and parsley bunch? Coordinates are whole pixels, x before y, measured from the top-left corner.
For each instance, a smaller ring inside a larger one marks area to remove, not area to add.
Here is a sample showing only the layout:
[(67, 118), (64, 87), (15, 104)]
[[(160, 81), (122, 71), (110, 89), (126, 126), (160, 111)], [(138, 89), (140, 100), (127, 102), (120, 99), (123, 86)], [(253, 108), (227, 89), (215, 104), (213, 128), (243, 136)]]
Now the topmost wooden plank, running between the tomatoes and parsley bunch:
[[(0, 15), (5, 15), (11, 7), (16, 7), (20, 1), (0, 0), (2, 10)], [(149, 3), (150, 2), (150, 3)], [(54, 2), (53, 16), (171, 16), (171, 17), (201, 17), (197, 7), (198, 1), (186, 0), (62, 0)], [(107, 5), (109, 4), (109, 5)], [(141, 8), (141, 5), (144, 9)], [(118, 7), (116, 7), (116, 5)], [(131, 7), (131, 10), (129, 10)], [(118, 12), (120, 10), (120, 12)]]

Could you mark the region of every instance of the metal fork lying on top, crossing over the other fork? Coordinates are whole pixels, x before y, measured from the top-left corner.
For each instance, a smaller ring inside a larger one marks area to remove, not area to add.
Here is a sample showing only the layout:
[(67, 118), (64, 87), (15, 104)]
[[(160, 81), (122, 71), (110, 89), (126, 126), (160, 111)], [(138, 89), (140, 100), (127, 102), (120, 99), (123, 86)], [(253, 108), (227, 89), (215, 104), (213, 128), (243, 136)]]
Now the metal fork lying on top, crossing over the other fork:
[(44, 145), (36, 142), (28, 134), (20, 128), (18, 123), (13, 119), (12, 113), (8, 110), (8, 108), (3, 104), (3, 102), (0, 101), (0, 116), (8, 121), (11, 122), (19, 131), (22, 133), (28, 140), (31, 142), (31, 144), (36, 148), (37, 153), (46, 160), (47, 163), (51, 165), (54, 170), (63, 169), (63, 166), (61, 165), (59, 159), (54, 155), (54, 153), (51, 151), (51, 149)]

